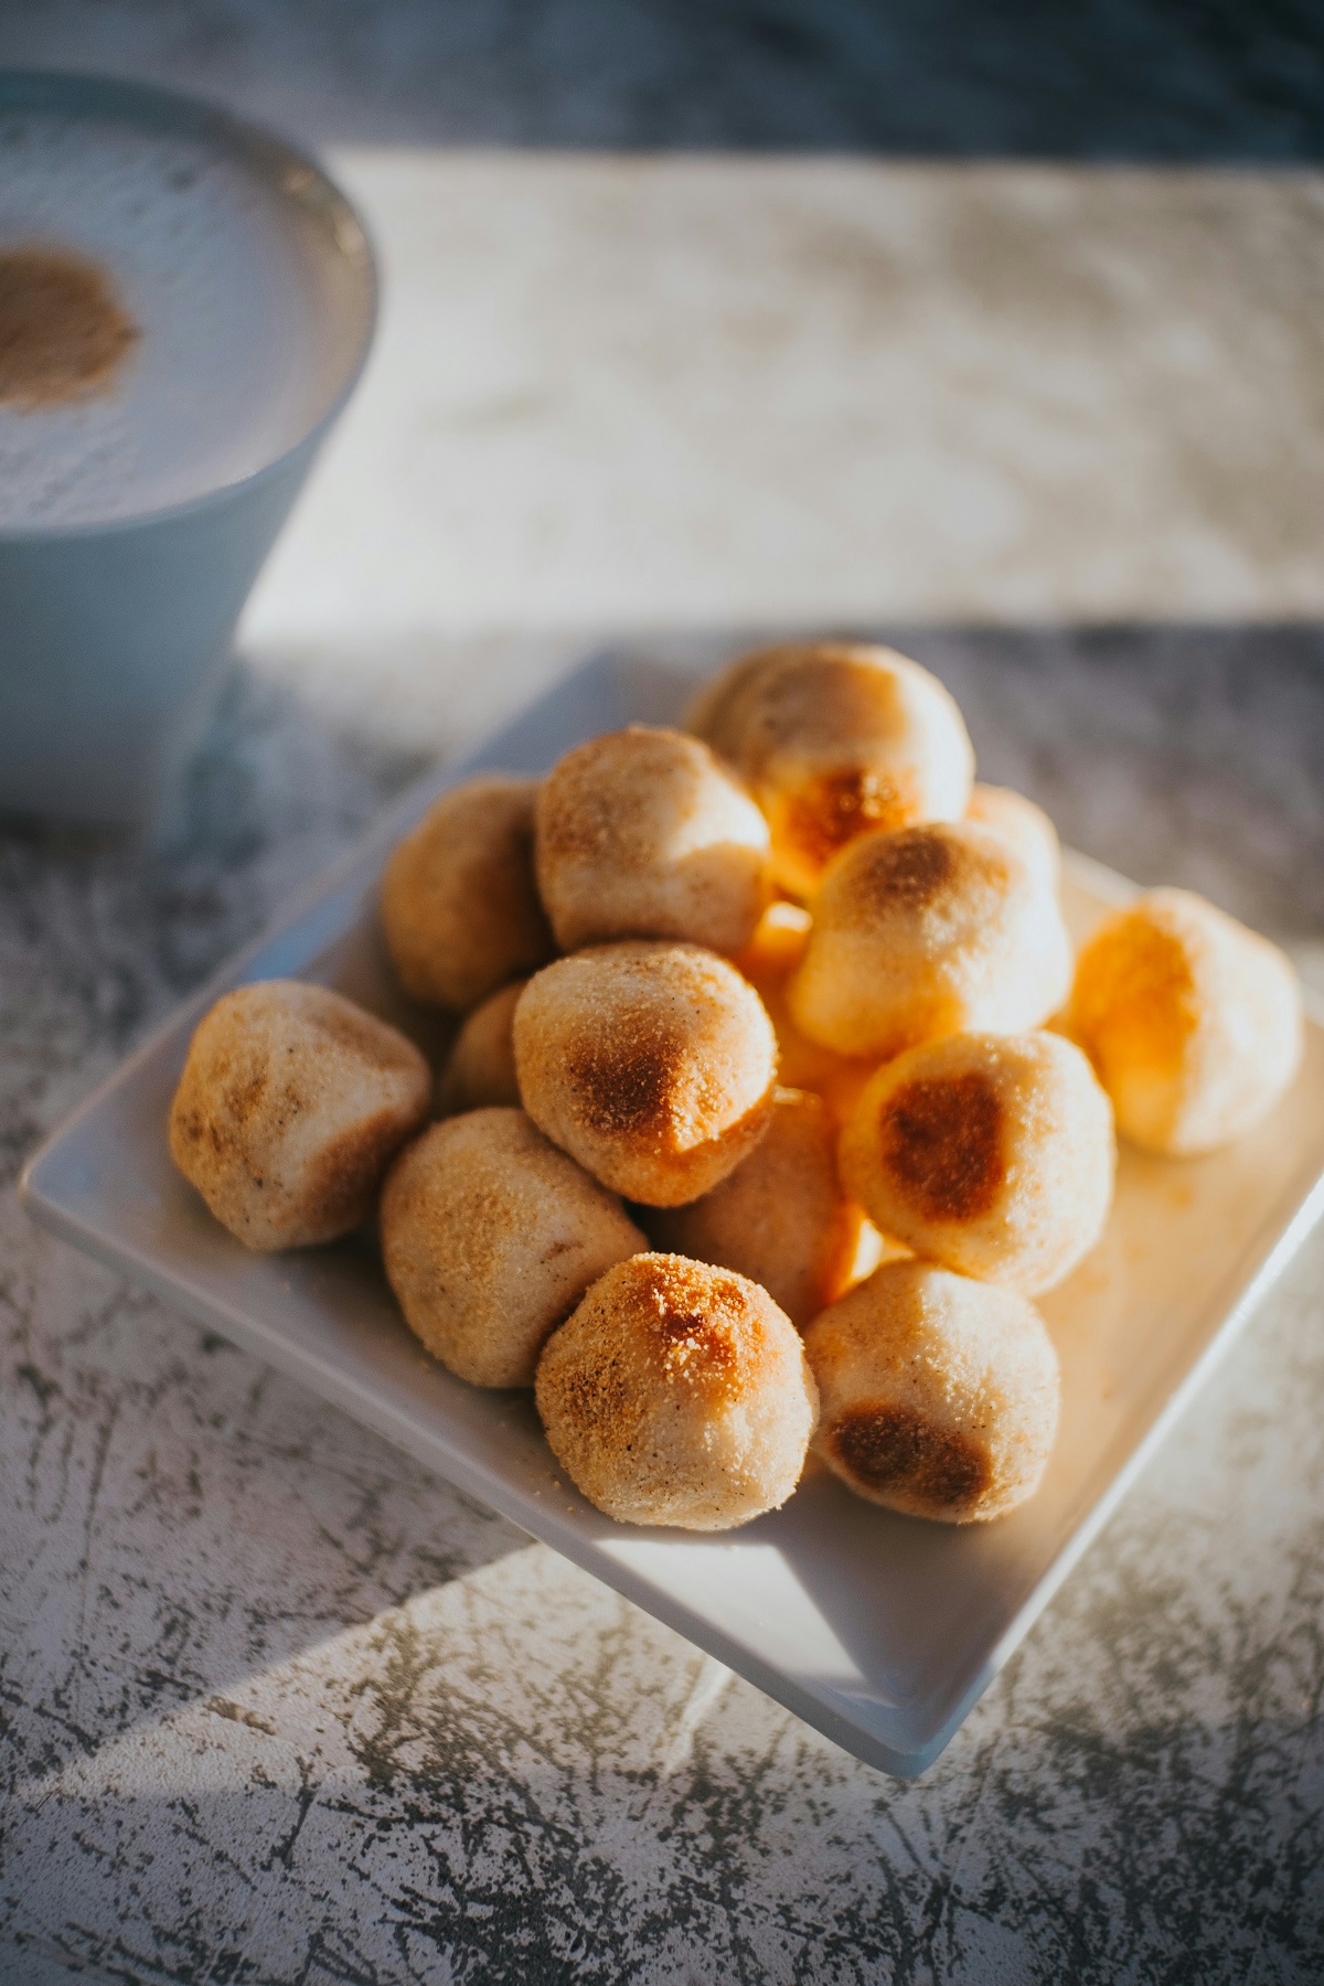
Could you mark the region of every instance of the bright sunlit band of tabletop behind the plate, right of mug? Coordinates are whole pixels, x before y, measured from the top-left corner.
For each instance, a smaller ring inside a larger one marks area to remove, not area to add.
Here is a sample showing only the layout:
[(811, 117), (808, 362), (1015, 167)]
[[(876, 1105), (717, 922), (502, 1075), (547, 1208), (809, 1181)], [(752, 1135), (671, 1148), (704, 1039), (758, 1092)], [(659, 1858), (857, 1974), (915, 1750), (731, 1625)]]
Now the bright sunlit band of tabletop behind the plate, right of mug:
[(1324, 614), (1320, 173), (331, 165), (381, 338), (262, 647)]

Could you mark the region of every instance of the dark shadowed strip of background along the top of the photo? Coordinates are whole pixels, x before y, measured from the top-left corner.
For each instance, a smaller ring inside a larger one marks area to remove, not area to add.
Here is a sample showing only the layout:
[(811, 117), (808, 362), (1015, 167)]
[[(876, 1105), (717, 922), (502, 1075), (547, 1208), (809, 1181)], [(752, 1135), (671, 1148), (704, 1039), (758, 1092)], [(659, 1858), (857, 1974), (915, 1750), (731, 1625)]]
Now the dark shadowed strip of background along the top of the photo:
[(1318, 159), (1312, 0), (0, 0), (0, 58), (320, 141)]

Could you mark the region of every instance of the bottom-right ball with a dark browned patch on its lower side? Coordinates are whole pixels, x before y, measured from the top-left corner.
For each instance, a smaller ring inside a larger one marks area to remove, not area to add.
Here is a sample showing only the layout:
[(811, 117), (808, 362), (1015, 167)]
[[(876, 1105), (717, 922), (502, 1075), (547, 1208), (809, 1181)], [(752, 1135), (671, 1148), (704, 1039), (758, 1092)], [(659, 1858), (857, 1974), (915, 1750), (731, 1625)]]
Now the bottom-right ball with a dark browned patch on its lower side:
[(1034, 1495), (1058, 1430), (1058, 1354), (1032, 1303), (931, 1263), (875, 1269), (816, 1317), (814, 1450), (856, 1495), (983, 1523)]

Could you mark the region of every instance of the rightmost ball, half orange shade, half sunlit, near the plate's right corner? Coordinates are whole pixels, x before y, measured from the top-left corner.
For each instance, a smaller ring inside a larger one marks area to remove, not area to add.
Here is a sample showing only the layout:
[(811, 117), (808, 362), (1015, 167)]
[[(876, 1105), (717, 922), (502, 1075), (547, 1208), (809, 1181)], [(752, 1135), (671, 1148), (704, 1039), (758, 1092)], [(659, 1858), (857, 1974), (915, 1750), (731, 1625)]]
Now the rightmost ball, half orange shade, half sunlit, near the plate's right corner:
[(1189, 1158), (1251, 1130), (1302, 1055), (1292, 961), (1191, 890), (1151, 890), (1090, 937), (1066, 1029), (1114, 1100), (1118, 1130)]

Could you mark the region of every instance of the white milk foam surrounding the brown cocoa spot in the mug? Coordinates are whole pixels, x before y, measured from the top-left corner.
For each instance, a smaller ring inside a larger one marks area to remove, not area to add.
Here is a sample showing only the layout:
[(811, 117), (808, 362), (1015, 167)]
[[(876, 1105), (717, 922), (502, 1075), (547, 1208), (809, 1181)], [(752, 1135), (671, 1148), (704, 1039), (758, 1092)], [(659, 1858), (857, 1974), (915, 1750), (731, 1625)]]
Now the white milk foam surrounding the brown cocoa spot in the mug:
[(139, 330), (109, 393), (0, 405), (0, 530), (185, 502), (316, 425), (363, 306), (345, 310), (341, 246), (304, 197), (310, 179), (210, 135), (0, 109), (0, 248), (99, 264)]

